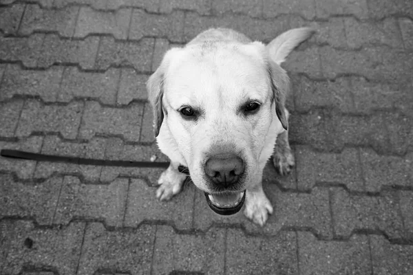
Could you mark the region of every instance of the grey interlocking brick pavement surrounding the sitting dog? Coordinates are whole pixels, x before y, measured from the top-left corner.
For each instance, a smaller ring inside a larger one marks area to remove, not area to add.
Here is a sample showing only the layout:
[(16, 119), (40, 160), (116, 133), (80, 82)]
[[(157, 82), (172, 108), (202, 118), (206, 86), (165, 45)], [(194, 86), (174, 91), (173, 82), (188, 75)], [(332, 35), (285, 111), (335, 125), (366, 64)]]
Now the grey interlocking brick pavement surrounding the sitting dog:
[(257, 228), (160, 169), (0, 158), (1, 274), (413, 274), (411, 0), (0, 0), (0, 148), (166, 161), (145, 81), (211, 26), (318, 32), (285, 67), (297, 166)]

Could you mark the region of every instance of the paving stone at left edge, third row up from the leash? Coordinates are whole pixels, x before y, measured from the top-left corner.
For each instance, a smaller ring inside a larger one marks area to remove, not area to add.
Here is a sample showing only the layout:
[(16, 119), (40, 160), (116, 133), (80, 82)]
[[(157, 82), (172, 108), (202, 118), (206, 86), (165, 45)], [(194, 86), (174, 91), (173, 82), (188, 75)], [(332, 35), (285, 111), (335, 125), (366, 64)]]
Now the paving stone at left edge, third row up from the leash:
[(36, 67), (45, 34), (29, 37), (0, 36), (1, 61), (21, 61), (26, 67)]

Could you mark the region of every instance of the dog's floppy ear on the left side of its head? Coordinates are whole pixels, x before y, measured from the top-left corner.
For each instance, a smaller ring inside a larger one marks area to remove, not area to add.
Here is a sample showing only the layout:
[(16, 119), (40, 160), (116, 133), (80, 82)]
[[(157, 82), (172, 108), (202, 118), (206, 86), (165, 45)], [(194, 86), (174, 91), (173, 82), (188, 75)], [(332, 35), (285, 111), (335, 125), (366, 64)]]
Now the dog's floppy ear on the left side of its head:
[(165, 75), (167, 74), (167, 69), (169, 67), (169, 63), (171, 62), (171, 58), (177, 50), (179, 49), (173, 48), (165, 54), (162, 59), (162, 63), (160, 63), (158, 69), (156, 69), (147, 81), (149, 102), (152, 104), (153, 109), (153, 128), (155, 130), (155, 137), (159, 135), (160, 126), (162, 125), (164, 115), (167, 115), (162, 106)]

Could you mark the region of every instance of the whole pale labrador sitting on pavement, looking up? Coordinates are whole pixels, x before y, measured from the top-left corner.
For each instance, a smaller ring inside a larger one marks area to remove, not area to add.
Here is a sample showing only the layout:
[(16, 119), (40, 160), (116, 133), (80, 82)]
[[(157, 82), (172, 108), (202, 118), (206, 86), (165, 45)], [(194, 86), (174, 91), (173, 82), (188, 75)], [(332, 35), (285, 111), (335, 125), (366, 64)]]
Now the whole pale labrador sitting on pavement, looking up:
[(210, 29), (165, 54), (147, 82), (156, 140), (171, 160), (158, 199), (180, 192), (187, 171), (213, 211), (233, 214), (245, 202), (246, 217), (264, 225), (273, 213), (264, 166), (271, 155), (282, 175), (294, 165), (284, 107), (290, 84), (280, 65), (311, 34), (297, 28), (264, 45)]

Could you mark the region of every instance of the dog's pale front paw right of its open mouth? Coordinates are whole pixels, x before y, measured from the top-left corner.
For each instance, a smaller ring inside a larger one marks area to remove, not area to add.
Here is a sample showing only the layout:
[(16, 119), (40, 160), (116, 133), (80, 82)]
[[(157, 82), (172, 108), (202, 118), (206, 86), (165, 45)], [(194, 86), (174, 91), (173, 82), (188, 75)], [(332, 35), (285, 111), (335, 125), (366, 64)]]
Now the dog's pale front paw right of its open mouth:
[(271, 202), (265, 197), (260, 199), (250, 199), (246, 201), (244, 214), (248, 219), (260, 226), (264, 226), (268, 219), (268, 214), (273, 214), (273, 206)]

